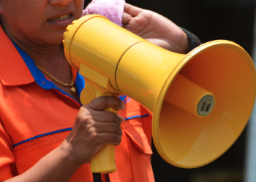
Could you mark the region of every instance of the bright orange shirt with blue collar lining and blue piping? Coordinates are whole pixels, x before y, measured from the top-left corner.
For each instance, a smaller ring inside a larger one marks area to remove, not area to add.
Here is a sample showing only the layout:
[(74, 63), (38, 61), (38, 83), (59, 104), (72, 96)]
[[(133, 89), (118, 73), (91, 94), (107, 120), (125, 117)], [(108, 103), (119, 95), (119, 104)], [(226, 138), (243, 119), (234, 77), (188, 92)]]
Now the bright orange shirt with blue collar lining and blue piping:
[[(80, 103), (45, 78), (34, 61), (10, 41), (0, 27), (0, 181), (24, 173), (56, 149), (72, 130)], [(84, 80), (72, 69), (78, 92)], [(116, 147), (115, 182), (153, 182), (151, 116), (135, 100), (122, 95), (127, 109), (124, 135)], [(70, 182), (93, 181), (82, 165)]]

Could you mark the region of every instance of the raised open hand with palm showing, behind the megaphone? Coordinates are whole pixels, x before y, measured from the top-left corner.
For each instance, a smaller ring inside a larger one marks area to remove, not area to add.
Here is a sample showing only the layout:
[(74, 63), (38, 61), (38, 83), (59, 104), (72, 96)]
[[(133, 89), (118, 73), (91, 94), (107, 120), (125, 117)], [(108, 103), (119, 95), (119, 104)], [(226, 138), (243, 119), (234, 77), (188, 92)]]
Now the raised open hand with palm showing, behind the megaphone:
[(138, 36), (178, 53), (187, 53), (187, 34), (166, 17), (131, 4), (124, 5), (123, 27)]

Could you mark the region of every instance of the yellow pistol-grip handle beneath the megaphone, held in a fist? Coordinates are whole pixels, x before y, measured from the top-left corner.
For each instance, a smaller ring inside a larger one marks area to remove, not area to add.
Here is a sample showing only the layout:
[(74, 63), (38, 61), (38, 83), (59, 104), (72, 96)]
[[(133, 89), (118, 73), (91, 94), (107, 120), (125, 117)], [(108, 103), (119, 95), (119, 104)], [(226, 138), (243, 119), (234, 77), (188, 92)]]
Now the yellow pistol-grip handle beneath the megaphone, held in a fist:
[[(80, 93), (80, 101), (83, 105), (90, 103), (94, 98), (101, 96), (113, 96), (116, 92), (110, 92), (86, 79), (86, 87)], [(118, 114), (118, 110), (114, 108), (105, 108), (104, 111), (110, 111)], [(91, 159), (92, 173), (113, 173), (116, 172), (115, 163), (115, 146), (113, 144), (104, 146)]]

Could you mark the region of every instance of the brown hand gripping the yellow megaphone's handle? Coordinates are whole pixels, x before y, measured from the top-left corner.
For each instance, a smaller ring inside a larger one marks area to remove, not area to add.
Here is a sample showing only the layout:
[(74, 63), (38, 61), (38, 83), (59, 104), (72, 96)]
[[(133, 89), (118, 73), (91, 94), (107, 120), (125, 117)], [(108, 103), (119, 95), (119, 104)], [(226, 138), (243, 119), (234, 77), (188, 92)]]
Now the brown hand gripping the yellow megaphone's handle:
[(69, 156), (78, 164), (88, 164), (103, 146), (110, 143), (118, 146), (121, 142), (121, 122), (117, 114), (103, 111), (107, 107), (118, 110), (125, 106), (116, 97), (100, 97), (80, 108), (75, 124), (62, 145)]

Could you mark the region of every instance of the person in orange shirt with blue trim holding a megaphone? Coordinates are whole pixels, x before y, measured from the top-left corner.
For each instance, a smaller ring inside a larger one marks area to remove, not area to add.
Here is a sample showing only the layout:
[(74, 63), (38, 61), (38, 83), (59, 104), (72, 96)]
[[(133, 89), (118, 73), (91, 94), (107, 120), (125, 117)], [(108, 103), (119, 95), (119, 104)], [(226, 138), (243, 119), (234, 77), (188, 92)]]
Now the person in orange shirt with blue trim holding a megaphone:
[[(146, 111), (116, 97), (81, 106), (70, 90), (72, 82), (78, 89), (82, 81), (61, 41), (82, 12), (83, 0), (0, 0), (0, 181), (93, 181), (90, 160), (110, 143), (118, 146), (118, 171), (110, 181), (154, 181), (151, 151), (141, 151), (125, 129), (139, 127), (149, 145), (150, 133), (140, 127), (150, 126)], [(167, 50), (188, 52), (187, 34), (167, 18), (129, 4), (124, 12), (127, 30)], [(123, 110), (121, 116), (103, 111), (106, 107)], [(147, 117), (129, 119), (134, 114)]]

